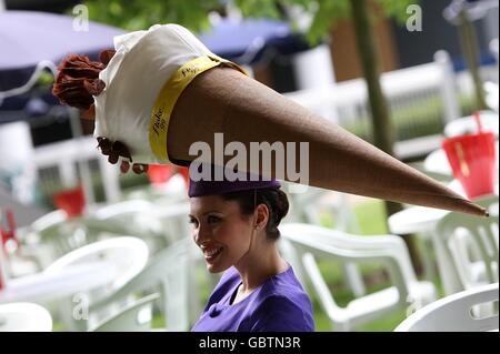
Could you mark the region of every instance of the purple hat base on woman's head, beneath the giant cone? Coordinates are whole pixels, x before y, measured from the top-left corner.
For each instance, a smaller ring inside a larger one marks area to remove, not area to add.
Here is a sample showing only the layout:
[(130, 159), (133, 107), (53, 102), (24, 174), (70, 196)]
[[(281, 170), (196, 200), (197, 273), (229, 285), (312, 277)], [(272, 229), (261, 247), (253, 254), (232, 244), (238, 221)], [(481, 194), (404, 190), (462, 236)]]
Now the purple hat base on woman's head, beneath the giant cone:
[[(202, 195), (217, 195), (217, 194), (224, 194), (230, 192), (239, 192), (239, 191), (247, 191), (247, 190), (261, 190), (266, 188), (280, 188), (281, 183), (278, 180), (274, 179), (268, 179), (263, 180), (262, 176), (257, 176), (256, 174), (250, 173), (240, 173), (242, 176), (241, 179), (237, 180), (228, 180), (228, 172), (234, 173), (230, 169), (223, 169), (216, 165), (204, 165), (204, 169), (209, 169), (210, 178), (202, 178), (200, 179), (200, 175), (194, 179), (192, 176), (191, 168), (189, 169), (189, 196), (202, 196)], [(200, 172), (200, 169), (198, 169), (198, 172)], [(207, 171), (206, 171), (207, 172)], [(224, 173), (222, 173), (224, 172)], [(208, 174), (208, 173), (207, 173)], [(207, 175), (208, 176), (208, 175)], [(251, 176), (253, 176), (253, 180), (251, 181)], [(217, 178), (217, 179), (216, 179)]]

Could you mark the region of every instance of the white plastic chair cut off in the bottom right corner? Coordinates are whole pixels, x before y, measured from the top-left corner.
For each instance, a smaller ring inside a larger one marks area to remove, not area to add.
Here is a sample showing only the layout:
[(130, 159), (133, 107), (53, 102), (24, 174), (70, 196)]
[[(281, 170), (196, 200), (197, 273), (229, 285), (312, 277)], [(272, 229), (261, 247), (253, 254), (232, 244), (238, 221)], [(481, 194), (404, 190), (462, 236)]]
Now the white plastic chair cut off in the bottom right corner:
[(497, 302), (498, 283), (466, 290), (440, 299), (420, 309), (396, 332), (496, 332), (499, 330), (498, 311), (488, 317), (474, 316), (473, 307)]

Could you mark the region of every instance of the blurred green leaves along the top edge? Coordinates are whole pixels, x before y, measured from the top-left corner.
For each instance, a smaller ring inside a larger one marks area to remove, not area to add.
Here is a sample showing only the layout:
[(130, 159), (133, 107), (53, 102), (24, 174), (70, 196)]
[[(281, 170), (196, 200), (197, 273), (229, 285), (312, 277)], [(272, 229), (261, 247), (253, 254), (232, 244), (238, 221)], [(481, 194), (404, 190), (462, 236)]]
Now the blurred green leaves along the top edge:
[[(350, 18), (350, 0), (87, 0), (90, 19), (127, 30), (143, 30), (156, 23), (179, 23), (194, 32), (210, 29), (208, 13), (226, 16), (228, 9), (238, 9), (244, 18), (271, 18), (290, 22), (299, 30), (291, 13), (310, 13), (306, 37), (317, 43), (329, 33), (338, 20)], [(399, 22), (408, 18), (407, 8), (414, 0), (373, 0), (382, 11)]]

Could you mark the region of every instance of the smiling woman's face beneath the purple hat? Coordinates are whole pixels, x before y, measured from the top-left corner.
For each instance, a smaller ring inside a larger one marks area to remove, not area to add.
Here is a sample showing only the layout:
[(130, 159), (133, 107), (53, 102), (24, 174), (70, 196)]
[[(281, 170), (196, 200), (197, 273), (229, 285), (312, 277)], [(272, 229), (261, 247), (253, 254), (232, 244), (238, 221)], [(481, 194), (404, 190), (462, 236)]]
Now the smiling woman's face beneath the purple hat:
[(219, 195), (191, 198), (190, 204), (192, 235), (209, 272), (223, 272), (237, 264), (250, 247), (251, 215), (243, 215), (238, 202)]

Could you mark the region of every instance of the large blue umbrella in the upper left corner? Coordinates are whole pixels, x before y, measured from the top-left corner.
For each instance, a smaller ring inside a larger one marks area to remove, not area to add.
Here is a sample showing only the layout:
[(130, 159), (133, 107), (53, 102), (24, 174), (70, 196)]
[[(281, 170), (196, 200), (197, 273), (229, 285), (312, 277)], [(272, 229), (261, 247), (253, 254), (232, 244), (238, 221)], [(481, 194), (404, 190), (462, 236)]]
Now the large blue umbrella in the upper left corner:
[[(2, 91), (27, 83), (29, 89), (29, 80), (33, 79), (37, 67), (40, 69), (42, 63), (54, 71), (57, 63), (68, 53), (97, 58), (101, 50), (113, 48), (114, 36), (123, 33), (121, 29), (90, 21), (88, 30), (82, 31), (74, 27), (73, 18), (63, 14), (10, 10), (0, 12), (0, 113), (3, 111), (0, 122), (39, 115), (31, 114), (33, 104), (28, 104), (30, 94), (22, 93), (28, 90), (3, 94)], [(40, 95), (49, 105), (57, 104), (49, 91)], [(36, 113), (40, 113), (42, 104), (34, 107)]]

